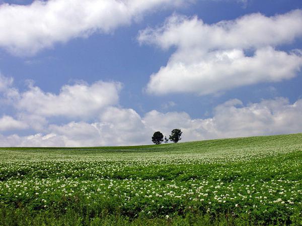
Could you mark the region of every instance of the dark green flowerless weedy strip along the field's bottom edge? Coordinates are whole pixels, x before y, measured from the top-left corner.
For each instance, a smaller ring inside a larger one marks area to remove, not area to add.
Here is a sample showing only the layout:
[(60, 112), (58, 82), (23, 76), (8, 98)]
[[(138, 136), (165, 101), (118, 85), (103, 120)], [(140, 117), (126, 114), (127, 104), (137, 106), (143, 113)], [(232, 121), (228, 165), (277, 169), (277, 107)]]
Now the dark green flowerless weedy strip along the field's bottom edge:
[[(51, 212), (37, 212), (32, 215), (30, 212), (0, 209), (0, 225), (257, 225), (250, 219), (248, 214), (237, 218), (230, 215), (219, 214), (211, 216), (210, 214), (188, 213), (186, 215), (171, 217), (135, 217), (129, 218), (123, 215), (94, 216), (87, 218), (74, 210), (67, 210), (64, 214), (56, 215)], [(273, 222), (269, 223), (274, 225)], [(300, 225), (300, 224), (296, 224)]]

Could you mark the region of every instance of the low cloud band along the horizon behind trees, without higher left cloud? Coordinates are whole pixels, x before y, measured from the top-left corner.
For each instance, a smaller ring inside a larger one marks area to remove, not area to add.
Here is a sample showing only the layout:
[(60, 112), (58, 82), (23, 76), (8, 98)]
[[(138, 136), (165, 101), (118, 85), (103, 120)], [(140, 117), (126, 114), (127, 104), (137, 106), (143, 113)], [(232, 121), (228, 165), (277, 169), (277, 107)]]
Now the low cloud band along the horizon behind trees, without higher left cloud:
[(95, 123), (50, 125), (46, 135), (0, 135), (1, 146), (108, 146), (149, 144), (155, 131), (183, 131), (182, 141), (302, 132), (302, 99), (286, 98), (243, 105), (239, 99), (215, 107), (213, 117), (192, 119), (186, 112), (157, 110), (140, 117), (133, 109), (108, 107)]

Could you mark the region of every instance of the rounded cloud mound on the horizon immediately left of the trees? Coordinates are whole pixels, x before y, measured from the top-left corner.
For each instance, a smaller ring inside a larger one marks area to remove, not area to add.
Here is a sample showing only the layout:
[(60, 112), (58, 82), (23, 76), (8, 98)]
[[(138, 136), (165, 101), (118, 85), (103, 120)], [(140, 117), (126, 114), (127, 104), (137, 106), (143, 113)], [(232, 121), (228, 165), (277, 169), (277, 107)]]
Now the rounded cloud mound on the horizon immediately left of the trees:
[(51, 125), (49, 131), (64, 140), (65, 146), (118, 146), (149, 142), (147, 128), (133, 109), (109, 107), (96, 123), (71, 122)]

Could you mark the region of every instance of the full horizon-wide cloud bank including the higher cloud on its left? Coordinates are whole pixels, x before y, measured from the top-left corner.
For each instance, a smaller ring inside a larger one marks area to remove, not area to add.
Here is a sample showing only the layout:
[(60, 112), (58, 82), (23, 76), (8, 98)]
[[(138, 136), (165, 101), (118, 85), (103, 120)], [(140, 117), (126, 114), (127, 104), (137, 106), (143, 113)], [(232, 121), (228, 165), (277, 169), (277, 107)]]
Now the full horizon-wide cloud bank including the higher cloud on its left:
[[(4, 76), (2, 80), (10, 81)], [(9, 82), (1, 102), (10, 104), (16, 114), (0, 117), (0, 146), (141, 145), (150, 144), (155, 131), (168, 137), (175, 128), (183, 131), (182, 141), (298, 133), (302, 128), (302, 99), (291, 104), (279, 97), (246, 105), (231, 99), (216, 106), (213, 116), (205, 119), (192, 119), (186, 112), (158, 110), (140, 116), (134, 109), (119, 105), (120, 88), (116, 82), (83, 82), (64, 85), (54, 94), (32, 85), (20, 92)], [(91, 100), (73, 97), (75, 90)], [(52, 108), (55, 110), (49, 111)], [(53, 123), (53, 117), (64, 119), (63, 123)], [(19, 136), (18, 131), (30, 134)]]

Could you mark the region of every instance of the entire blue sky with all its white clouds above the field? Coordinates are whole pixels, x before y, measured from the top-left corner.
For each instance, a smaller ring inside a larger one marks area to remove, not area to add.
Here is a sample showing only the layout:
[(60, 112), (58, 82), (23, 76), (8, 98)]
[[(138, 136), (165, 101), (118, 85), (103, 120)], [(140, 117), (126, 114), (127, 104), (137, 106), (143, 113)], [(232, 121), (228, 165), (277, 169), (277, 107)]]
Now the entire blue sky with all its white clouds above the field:
[(0, 21), (0, 146), (302, 132), (301, 1), (2, 1)]

